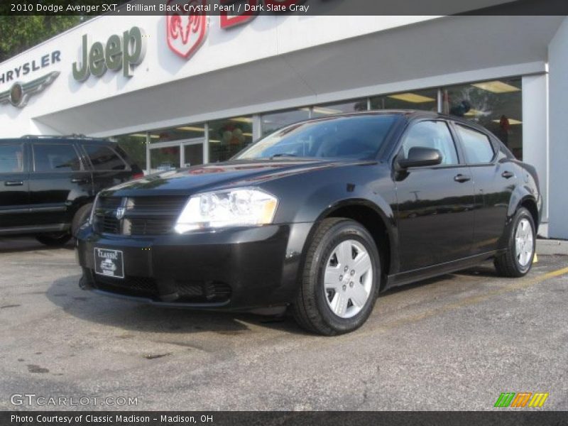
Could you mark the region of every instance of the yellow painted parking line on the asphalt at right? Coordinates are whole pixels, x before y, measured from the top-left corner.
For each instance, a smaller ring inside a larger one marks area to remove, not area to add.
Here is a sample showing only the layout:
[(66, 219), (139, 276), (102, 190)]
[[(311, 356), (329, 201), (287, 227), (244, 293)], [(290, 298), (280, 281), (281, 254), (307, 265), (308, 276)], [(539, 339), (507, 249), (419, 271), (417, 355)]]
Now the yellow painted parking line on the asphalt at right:
[[(505, 293), (510, 293), (512, 291), (515, 290), (521, 290), (523, 288), (529, 288), (532, 285), (538, 284), (538, 283), (542, 283), (542, 281), (548, 280), (550, 278), (556, 278), (559, 277), (560, 275), (565, 275), (568, 273), (568, 268), (562, 268), (562, 269), (557, 269), (556, 271), (551, 271), (548, 273), (543, 273), (542, 275), (536, 275), (533, 278), (528, 278), (525, 280), (515, 280), (514, 283), (511, 283), (510, 285), (505, 285), (502, 288), (498, 288), (496, 290), (490, 290), (486, 293), (484, 293), (483, 295), (479, 295), (479, 296), (471, 296), (471, 297), (466, 297), (462, 300), (458, 300), (457, 302), (451, 302), (448, 303), (447, 305), (443, 305), (441, 307), (435, 307), (432, 308), (430, 310), (425, 310), (424, 312), (420, 312), (419, 314), (416, 315), (411, 315), (410, 317), (404, 317), (401, 318), (400, 320), (395, 320), (392, 322), (387, 322), (387, 323), (383, 323), (383, 324), (378, 324), (377, 327), (365, 327), (364, 330), (361, 330), (359, 332), (354, 332), (351, 334), (345, 334), (344, 336), (340, 336), (340, 337), (334, 337), (334, 339), (328, 340), (328, 342), (330, 344), (332, 344), (332, 341), (334, 341), (335, 339), (342, 339), (342, 340), (351, 340), (351, 339), (359, 339), (359, 337), (361, 336), (366, 336), (369, 334), (374, 334), (377, 331), (388, 331), (390, 329), (396, 328), (396, 327), (400, 327), (401, 325), (406, 325), (406, 324), (410, 324), (413, 322), (417, 322), (420, 320), (425, 320), (426, 318), (430, 318), (430, 317), (436, 317), (437, 315), (441, 315), (444, 314), (446, 312), (452, 311), (452, 310), (457, 310), (460, 307), (464, 307), (464, 306), (469, 306), (469, 305), (475, 305), (476, 303), (479, 302), (484, 302), (485, 300), (496, 296), (496, 295), (502, 295)], [(381, 307), (381, 297), (378, 297), (378, 308)], [(380, 315), (380, 313), (379, 313)], [(367, 323), (368, 324), (368, 323)], [(369, 324), (370, 325), (370, 324)], [(322, 340), (322, 342), (324, 342), (324, 340)]]

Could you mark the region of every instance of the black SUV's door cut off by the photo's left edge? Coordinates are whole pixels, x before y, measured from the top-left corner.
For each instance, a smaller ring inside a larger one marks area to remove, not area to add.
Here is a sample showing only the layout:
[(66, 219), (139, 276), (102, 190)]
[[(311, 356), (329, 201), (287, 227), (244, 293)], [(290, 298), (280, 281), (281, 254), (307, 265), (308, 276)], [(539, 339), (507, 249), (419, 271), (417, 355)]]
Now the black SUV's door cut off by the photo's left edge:
[(26, 142), (0, 142), (0, 232), (30, 220), (28, 158)]

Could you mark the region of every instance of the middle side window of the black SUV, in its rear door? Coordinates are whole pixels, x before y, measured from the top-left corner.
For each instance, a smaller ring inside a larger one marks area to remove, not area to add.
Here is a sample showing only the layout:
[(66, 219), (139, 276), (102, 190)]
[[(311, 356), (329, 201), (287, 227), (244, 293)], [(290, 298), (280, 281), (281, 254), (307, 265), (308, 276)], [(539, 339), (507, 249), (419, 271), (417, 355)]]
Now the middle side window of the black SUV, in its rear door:
[(37, 143), (33, 145), (33, 165), (36, 172), (75, 172), (81, 162), (72, 145)]

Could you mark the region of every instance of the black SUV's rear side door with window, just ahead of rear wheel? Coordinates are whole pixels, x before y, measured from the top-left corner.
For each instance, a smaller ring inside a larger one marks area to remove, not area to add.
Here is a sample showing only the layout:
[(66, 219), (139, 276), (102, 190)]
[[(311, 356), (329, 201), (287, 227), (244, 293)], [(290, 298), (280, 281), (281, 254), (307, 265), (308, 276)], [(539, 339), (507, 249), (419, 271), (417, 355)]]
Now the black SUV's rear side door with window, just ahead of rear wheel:
[[(91, 173), (72, 143), (31, 143), (30, 207), (37, 225), (67, 228), (75, 210), (91, 197)], [(65, 226), (63, 226), (65, 225)]]

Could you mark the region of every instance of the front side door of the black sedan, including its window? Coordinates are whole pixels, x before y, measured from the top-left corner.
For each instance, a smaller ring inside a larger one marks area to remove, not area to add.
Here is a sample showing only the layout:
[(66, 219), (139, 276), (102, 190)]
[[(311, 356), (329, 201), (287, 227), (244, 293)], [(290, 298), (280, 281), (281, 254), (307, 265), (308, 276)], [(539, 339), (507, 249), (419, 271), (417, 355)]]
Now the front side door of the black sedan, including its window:
[(415, 146), (437, 149), (442, 163), (395, 174), (401, 272), (470, 256), (474, 235), (474, 184), (447, 123), (411, 125), (398, 155)]

